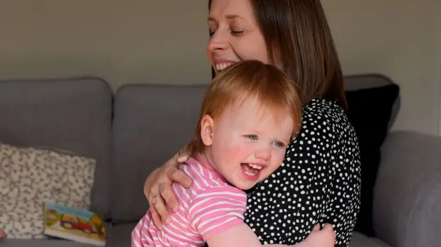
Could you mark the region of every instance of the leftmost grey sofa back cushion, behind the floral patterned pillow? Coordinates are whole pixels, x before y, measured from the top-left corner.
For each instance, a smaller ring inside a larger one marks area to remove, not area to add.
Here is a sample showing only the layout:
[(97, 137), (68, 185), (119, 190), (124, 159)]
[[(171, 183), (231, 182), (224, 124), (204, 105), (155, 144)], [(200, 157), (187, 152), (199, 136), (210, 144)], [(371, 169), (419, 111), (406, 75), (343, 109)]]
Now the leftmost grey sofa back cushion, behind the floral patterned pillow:
[(112, 90), (99, 78), (0, 81), (0, 142), (96, 160), (92, 211), (109, 213)]

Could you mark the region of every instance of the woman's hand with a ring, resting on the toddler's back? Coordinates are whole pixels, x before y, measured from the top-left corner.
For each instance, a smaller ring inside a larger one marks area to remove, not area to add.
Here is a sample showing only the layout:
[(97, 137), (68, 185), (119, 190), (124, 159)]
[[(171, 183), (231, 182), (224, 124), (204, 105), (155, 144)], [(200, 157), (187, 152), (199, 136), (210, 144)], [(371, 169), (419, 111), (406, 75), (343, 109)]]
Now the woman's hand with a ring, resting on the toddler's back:
[[(167, 206), (176, 212), (179, 202), (173, 193), (172, 183), (178, 182), (185, 188), (192, 185), (192, 180), (183, 171), (179, 170), (179, 164), (188, 159), (187, 153), (176, 153), (162, 167), (155, 169), (147, 177), (144, 183), (144, 195), (150, 204), (153, 222), (155, 226), (162, 229), (163, 223), (170, 223), (170, 215)], [(167, 203), (167, 204), (165, 204)]]

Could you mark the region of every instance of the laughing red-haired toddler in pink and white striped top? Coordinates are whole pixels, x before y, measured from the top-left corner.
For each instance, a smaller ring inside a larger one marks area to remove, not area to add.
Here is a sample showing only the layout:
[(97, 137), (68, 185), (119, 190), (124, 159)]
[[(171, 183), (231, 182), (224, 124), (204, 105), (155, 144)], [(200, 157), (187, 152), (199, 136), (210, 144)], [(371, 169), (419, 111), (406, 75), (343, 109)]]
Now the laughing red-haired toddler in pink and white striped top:
[[(283, 163), (301, 122), (296, 85), (280, 69), (244, 61), (223, 69), (203, 99), (191, 158), (180, 169), (193, 183), (173, 184), (179, 209), (156, 228), (150, 211), (132, 231), (134, 246), (261, 246), (243, 222), (247, 195)], [(332, 229), (316, 226), (298, 247), (334, 246)], [(271, 246), (283, 246), (271, 244)]]

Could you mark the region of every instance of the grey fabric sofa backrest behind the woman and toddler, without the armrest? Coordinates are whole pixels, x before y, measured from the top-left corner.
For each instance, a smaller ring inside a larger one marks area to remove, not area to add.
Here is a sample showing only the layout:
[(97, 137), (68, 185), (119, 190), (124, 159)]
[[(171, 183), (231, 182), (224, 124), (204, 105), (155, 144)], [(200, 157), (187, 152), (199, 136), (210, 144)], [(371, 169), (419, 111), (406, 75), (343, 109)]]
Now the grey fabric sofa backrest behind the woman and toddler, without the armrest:
[[(348, 90), (391, 83), (376, 74), (345, 77)], [(126, 85), (113, 98), (99, 78), (0, 81), (0, 142), (95, 158), (92, 211), (136, 222), (148, 208), (145, 178), (192, 138), (207, 87)], [(399, 106), (398, 99), (391, 123)]]

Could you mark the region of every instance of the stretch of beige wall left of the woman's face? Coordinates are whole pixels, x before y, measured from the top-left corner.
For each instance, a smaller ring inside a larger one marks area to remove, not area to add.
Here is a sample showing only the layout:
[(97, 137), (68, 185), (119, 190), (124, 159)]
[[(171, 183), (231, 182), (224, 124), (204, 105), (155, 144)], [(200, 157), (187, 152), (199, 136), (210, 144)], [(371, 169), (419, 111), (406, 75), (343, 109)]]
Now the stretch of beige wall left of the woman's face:
[(208, 83), (203, 3), (1, 0), (0, 78), (93, 74), (114, 88)]

